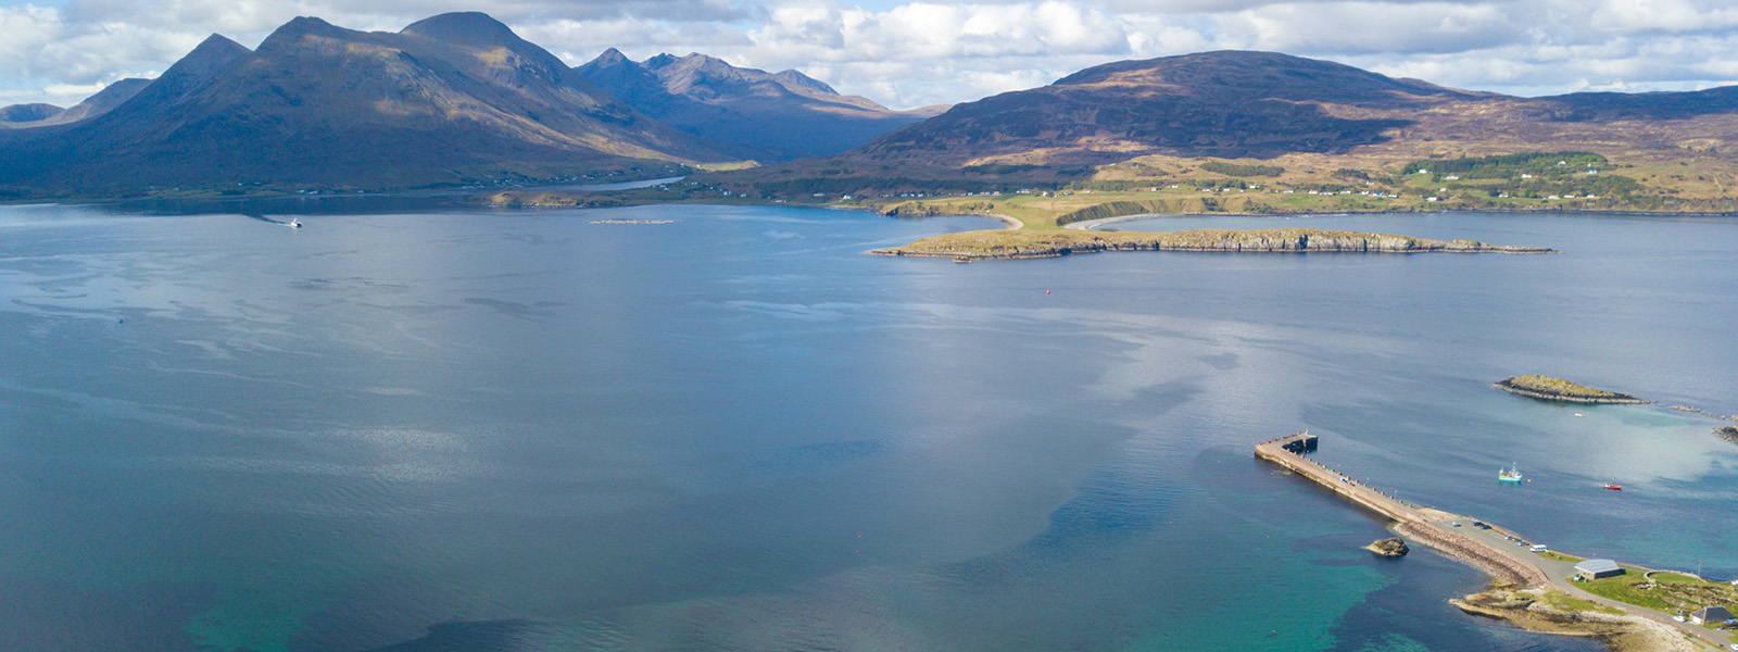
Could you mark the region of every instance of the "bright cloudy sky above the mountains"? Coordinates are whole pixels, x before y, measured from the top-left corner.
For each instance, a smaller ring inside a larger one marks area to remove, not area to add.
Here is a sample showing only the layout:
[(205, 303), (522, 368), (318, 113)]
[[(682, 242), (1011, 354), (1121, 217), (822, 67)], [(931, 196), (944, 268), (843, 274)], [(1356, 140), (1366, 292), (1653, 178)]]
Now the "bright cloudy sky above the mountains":
[(254, 47), (295, 16), (396, 31), (450, 10), (488, 12), (575, 66), (608, 47), (702, 52), (892, 108), (1220, 49), (1517, 96), (1738, 82), (1729, 0), (0, 0), (0, 106), (75, 104), (212, 33)]

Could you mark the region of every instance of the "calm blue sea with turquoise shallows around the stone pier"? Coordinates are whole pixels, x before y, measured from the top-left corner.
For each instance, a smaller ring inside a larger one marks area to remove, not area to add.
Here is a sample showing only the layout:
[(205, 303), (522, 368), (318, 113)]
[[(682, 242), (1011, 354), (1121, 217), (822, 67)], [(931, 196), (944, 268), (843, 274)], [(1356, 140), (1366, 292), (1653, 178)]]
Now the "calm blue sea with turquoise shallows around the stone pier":
[[(1489, 389), (1738, 412), (1733, 221), (959, 266), (862, 252), (987, 221), (309, 207), (0, 209), (0, 649), (1594, 649), (1361, 551), (1382, 523), (1250, 456), (1300, 428), (1554, 548), (1738, 577), (1714, 421)], [(1206, 224), (1274, 223), (1149, 228)]]

